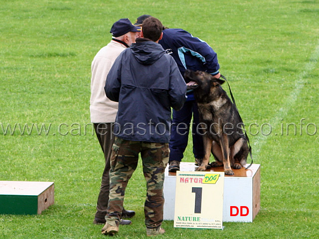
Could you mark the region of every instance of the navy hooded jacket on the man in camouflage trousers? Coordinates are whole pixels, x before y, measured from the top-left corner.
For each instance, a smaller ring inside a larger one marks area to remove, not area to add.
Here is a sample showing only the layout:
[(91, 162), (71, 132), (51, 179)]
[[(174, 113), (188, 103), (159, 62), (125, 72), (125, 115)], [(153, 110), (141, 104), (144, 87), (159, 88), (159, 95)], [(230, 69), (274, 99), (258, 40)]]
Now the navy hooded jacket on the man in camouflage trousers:
[(186, 100), (186, 84), (174, 59), (160, 44), (138, 38), (115, 60), (106, 96), (119, 102), (114, 134), (133, 141), (168, 143), (171, 110)]

